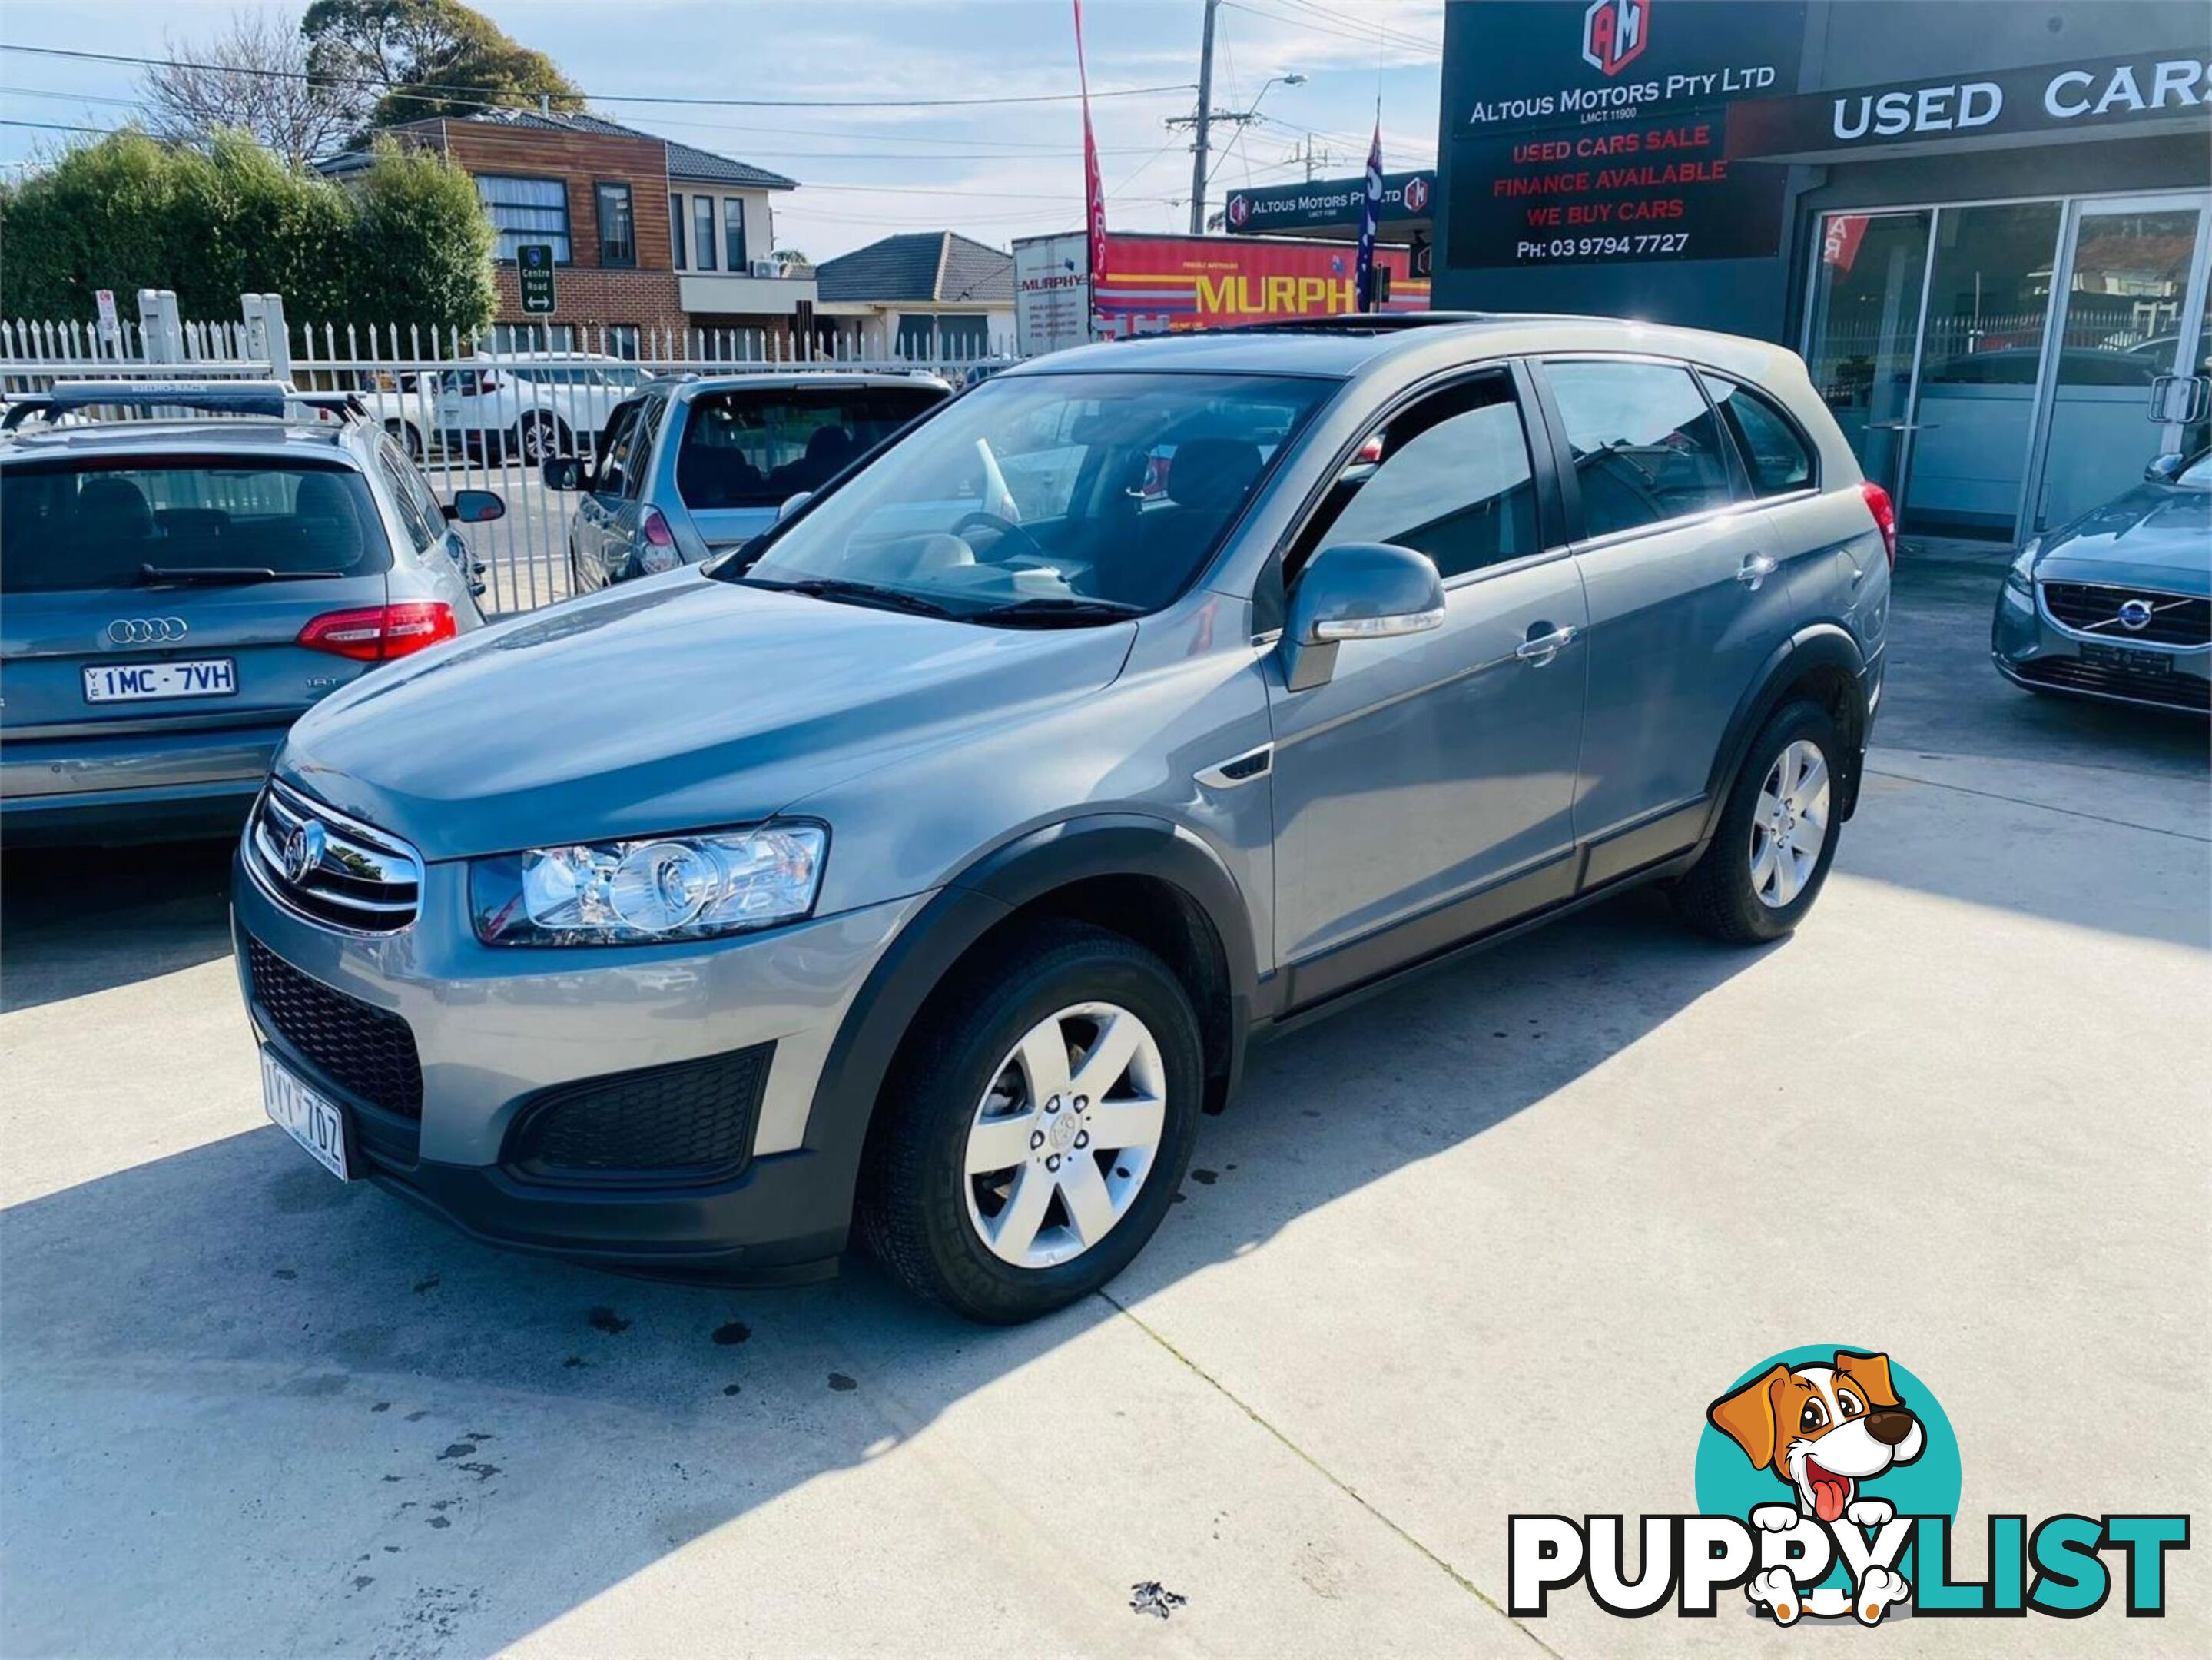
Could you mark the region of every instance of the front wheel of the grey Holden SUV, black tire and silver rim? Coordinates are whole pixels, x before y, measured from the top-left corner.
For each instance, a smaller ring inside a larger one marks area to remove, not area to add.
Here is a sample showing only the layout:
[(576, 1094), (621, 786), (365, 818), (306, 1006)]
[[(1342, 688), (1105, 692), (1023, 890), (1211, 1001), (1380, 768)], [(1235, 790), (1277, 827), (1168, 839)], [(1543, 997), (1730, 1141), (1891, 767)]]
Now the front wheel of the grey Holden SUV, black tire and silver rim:
[[(1031, 1076), (1057, 1065), (1053, 1038), (1066, 1040), (1066, 1093), (1033, 1100)], [(1106, 1069), (1097, 1100), (1073, 1093)], [(1199, 1020), (1166, 963), (1086, 923), (1029, 930), (964, 965), (900, 1049), (863, 1169), (860, 1237), (902, 1286), (967, 1319), (1013, 1326), (1066, 1308), (1121, 1273), (1168, 1215), (1203, 1087)], [(1144, 1129), (1155, 1104), (1157, 1133)], [(1095, 1144), (1086, 1124), (1099, 1127)], [(1137, 1140), (1106, 1147), (1148, 1133), (1141, 1158)], [(975, 1169), (1004, 1149), (1013, 1166)], [(1013, 1259), (1024, 1244), (1029, 1259)]]

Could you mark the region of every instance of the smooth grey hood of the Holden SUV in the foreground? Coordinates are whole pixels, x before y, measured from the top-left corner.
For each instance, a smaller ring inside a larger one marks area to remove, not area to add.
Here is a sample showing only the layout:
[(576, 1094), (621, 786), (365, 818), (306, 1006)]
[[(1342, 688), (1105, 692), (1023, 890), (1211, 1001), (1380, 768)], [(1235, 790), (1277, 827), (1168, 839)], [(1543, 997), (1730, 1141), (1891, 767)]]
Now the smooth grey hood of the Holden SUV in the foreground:
[(1095, 693), (1135, 635), (984, 629), (684, 569), (380, 668), (310, 710), (276, 770), (434, 861), (748, 823), (916, 744)]

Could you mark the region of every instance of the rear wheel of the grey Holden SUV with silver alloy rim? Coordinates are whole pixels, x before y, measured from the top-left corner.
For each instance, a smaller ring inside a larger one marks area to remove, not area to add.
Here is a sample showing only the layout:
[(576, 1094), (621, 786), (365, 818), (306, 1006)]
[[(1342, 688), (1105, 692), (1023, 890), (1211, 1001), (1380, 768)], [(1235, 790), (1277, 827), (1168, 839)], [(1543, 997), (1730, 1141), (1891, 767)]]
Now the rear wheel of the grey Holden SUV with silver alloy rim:
[[(1812, 759), (1818, 777), (1807, 770)], [(1794, 930), (1836, 859), (1840, 764), (1843, 741), (1825, 708), (1807, 699), (1776, 708), (1743, 757), (1712, 843), (1674, 883), (1683, 921), (1730, 945), (1763, 945)]]

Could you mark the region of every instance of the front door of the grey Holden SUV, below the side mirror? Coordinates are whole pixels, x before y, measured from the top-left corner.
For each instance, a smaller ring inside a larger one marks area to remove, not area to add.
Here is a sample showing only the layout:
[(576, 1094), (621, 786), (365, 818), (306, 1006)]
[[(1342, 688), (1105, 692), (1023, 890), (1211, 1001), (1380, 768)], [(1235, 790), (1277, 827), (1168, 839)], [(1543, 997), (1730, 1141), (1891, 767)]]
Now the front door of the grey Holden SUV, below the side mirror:
[(1347, 642), (1323, 686), (1270, 675), (1294, 1003), (1571, 888), (1584, 600), (1526, 416), (1502, 367), (1413, 398), (1292, 547), (1292, 587), (1321, 547), (1394, 542), (1427, 553), (1447, 595), (1440, 629)]

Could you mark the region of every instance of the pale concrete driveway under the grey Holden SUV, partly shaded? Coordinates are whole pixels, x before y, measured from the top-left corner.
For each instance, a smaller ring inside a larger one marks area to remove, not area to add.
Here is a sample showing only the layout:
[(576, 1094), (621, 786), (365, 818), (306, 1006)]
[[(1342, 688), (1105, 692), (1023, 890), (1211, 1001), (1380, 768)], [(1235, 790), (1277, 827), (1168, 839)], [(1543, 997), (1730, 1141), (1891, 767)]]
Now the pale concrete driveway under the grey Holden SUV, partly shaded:
[(1796, 1343), (1940, 1394), (1960, 1576), (1989, 1512), (2199, 1509), (2166, 1620), (1838, 1642), (2212, 1651), (2205, 728), (2004, 686), (1997, 571), (1907, 558), (1796, 938), (1630, 899), (1265, 1049), (1137, 1266), (1013, 1332), (338, 1186), (261, 1118), (221, 850), (11, 859), (0, 1651), (1818, 1649), (1502, 1614), (1511, 1512), (1692, 1509)]

